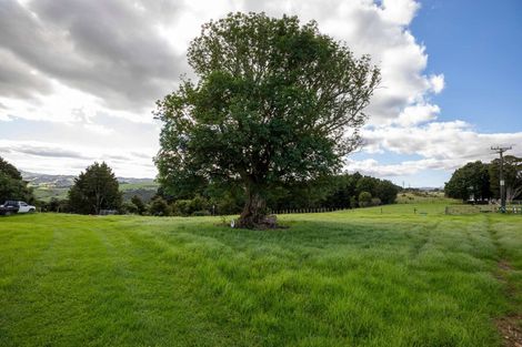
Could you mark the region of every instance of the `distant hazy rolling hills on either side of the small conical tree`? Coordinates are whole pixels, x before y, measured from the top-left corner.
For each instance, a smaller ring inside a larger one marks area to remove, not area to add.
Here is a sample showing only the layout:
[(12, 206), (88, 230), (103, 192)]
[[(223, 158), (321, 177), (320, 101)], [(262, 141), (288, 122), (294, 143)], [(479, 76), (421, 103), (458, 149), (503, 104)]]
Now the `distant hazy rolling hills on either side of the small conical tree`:
[[(67, 198), (67, 192), (74, 183), (73, 175), (50, 175), (22, 171), (23, 180), (34, 190), (37, 200), (50, 201), (52, 197)], [(153, 178), (118, 177), (123, 200), (138, 195), (149, 202), (158, 191), (159, 184)]]

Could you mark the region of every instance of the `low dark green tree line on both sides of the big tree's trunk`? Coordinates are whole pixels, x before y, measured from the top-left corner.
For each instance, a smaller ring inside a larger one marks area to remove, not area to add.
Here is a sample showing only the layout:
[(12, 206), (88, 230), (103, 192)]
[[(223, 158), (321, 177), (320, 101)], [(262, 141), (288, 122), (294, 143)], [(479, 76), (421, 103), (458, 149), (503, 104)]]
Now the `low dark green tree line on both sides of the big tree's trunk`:
[[(345, 173), (274, 187), (267, 194), (267, 212), (393, 204), (399, 192), (400, 187), (390, 181)], [(208, 183), (183, 196), (168, 195), (160, 187), (151, 202), (150, 213), (180, 216), (238, 214), (244, 198), (241, 185), (223, 187)]]

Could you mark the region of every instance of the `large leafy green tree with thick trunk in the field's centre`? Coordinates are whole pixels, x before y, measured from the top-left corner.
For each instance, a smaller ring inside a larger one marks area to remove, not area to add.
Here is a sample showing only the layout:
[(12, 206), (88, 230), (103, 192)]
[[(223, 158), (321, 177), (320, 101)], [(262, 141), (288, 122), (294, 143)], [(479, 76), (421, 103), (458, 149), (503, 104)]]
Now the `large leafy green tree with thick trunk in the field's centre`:
[(297, 17), (234, 13), (202, 27), (189, 48), (197, 82), (158, 102), (155, 157), (173, 195), (202, 184), (241, 184), (239, 225), (262, 223), (270, 190), (338, 172), (360, 143), (379, 84), (370, 57)]

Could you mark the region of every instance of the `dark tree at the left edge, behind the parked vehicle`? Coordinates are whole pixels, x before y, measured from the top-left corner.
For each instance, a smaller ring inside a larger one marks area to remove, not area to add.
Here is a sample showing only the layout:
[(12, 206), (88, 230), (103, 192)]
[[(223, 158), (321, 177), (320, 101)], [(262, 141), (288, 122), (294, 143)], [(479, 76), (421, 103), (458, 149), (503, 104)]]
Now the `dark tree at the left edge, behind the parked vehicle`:
[(7, 200), (32, 203), (34, 196), (17, 167), (0, 157), (0, 204)]

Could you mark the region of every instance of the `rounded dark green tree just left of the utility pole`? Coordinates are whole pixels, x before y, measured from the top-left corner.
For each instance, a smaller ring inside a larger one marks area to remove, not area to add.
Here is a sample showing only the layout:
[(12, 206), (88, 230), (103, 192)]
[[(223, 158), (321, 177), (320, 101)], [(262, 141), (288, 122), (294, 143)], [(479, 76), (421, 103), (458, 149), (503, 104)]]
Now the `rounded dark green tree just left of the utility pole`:
[(449, 197), (462, 201), (471, 197), (479, 201), (490, 198), (492, 194), (489, 164), (476, 161), (458, 169), (444, 185), (444, 193)]

